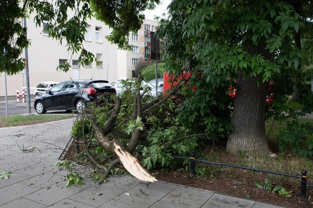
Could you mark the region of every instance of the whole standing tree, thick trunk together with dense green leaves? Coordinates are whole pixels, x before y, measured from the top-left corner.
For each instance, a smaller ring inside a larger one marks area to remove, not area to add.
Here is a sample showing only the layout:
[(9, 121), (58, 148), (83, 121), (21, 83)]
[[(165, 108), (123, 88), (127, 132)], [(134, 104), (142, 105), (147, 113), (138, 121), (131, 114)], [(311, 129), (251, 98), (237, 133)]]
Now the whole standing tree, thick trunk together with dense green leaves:
[[(308, 1), (172, 1), (170, 18), (158, 30), (167, 68), (201, 74), (192, 76), (200, 90), (180, 106), (186, 121), (228, 129), (230, 153), (269, 152), (264, 129), (269, 81), (275, 89), (270, 112), (282, 116), (302, 71), (299, 34), (312, 23), (311, 14), (300, 10), (310, 7)], [(229, 102), (225, 95), (231, 83), (237, 91)], [(217, 119), (221, 114), (224, 124)], [(231, 118), (232, 129), (225, 118)]]

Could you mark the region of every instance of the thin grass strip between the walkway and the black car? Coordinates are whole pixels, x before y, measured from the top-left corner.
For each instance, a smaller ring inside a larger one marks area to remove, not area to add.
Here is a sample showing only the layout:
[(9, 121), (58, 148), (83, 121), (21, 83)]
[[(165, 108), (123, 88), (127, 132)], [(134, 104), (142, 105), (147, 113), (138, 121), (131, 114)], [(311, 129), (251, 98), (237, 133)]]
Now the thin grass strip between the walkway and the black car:
[(75, 115), (9, 115), (0, 116), (0, 127), (31, 125), (75, 117)]

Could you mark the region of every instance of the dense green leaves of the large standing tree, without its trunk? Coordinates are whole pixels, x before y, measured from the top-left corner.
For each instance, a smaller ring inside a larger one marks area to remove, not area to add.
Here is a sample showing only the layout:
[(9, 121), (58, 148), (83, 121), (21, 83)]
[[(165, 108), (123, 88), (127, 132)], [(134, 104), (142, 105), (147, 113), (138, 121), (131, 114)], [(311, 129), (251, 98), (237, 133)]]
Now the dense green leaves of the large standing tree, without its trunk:
[[(184, 71), (201, 73), (200, 78), (194, 76), (189, 80), (189, 90), (196, 86), (199, 91), (190, 93), (192, 96), (185, 97), (179, 106), (182, 124), (187, 126), (189, 122), (196, 129), (203, 129), (206, 122), (205, 130), (212, 139), (227, 137), (232, 130), (229, 123), (233, 103), (226, 97), (230, 85), (227, 79), (230, 76), (238, 80), (238, 74), (243, 75), (243, 80), (255, 76), (258, 81), (272, 82), (268, 95), (274, 101), (266, 104), (267, 118), (284, 119), (286, 112), (295, 117), (311, 110), (309, 106), (313, 105), (309, 103), (313, 103), (313, 99), (307, 93), (298, 101), (301, 105), (305, 102), (302, 112), (291, 111), (292, 103), (288, 103), (287, 98), (292, 95), (296, 82), (304, 83), (304, 78), (311, 76), (311, 72), (305, 73), (300, 67), (305, 52), (299, 50), (297, 38), (298, 31), (303, 31), (303, 22), (309, 25), (304, 29), (306, 37), (311, 33), (312, 21), (308, 19), (312, 14), (308, 10), (312, 4), (291, 3), (181, 0), (169, 5), (171, 18), (163, 19), (157, 31), (164, 40), (166, 67), (175, 75)], [(306, 8), (301, 13), (304, 18), (298, 13), (302, 5)], [(244, 102), (253, 102), (249, 93), (241, 91), (242, 94)]]

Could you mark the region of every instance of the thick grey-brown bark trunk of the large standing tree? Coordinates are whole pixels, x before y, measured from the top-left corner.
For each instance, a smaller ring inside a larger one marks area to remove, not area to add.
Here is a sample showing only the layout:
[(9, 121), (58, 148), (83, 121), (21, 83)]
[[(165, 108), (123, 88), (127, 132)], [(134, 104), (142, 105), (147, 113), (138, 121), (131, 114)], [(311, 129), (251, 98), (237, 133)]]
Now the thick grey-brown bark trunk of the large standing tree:
[[(257, 84), (259, 82), (259, 85)], [(239, 73), (231, 123), (233, 132), (226, 145), (227, 152), (249, 154), (269, 153), (265, 135), (265, 104), (268, 82), (257, 77), (243, 77)]]

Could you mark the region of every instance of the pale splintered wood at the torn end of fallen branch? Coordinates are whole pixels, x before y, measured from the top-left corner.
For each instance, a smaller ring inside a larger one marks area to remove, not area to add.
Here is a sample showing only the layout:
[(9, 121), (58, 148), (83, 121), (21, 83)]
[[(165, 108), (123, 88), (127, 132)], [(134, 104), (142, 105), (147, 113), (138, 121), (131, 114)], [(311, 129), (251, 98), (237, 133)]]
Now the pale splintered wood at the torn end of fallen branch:
[(134, 177), (142, 181), (155, 182), (155, 179), (150, 175), (139, 163), (138, 159), (135, 158), (127, 151), (123, 151), (119, 145), (114, 143), (114, 152), (117, 154), (120, 162), (127, 169), (127, 171)]

